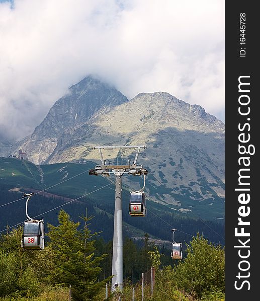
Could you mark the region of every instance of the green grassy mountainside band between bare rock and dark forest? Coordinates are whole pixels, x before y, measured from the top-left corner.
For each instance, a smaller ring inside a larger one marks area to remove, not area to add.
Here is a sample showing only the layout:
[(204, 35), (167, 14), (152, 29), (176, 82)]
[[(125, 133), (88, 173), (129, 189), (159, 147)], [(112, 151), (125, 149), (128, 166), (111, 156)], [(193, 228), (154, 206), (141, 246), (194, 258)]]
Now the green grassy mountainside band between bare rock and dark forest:
[[(88, 197), (93, 200), (94, 204), (106, 203), (109, 206), (114, 206), (115, 191), (113, 184), (92, 193), (111, 183), (109, 179), (105, 177), (89, 176), (89, 169), (94, 167), (95, 163), (93, 162), (86, 162), (86, 164), (59, 163), (36, 167), (28, 161), (0, 158), (0, 184), (11, 185), (12, 187), (29, 187), (39, 190), (51, 187), (48, 189), (48, 192), (70, 198), (78, 198), (85, 194), (89, 194)], [(41, 170), (43, 172), (43, 177), (41, 177)], [(78, 174), (81, 175), (76, 176)], [(141, 177), (129, 176), (129, 179), (131, 179), (132, 187), (136, 188), (142, 186), (143, 180)], [(110, 180), (114, 181), (115, 178), (110, 177)], [(154, 181), (152, 177), (151, 180)], [(63, 183), (55, 186), (60, 182)], [(130, 196), (129, 191), (131, 188), (125, 185), (124, 182), (123, 178), (123, 207), (127, 208)], [(156, 194), (162, 195), (163, 193), (169, 193), (172, 195), (172, 191), (165, 191), (165, 187), (159, 183), (156, 183), (156, 185), (158, 186), (154, 186), (154, 184), (146, 181), (146, 188), (148, 188), (150, 194), (156, 196)], [(199, 199), (194, 200), (194, 196), (190, 194), (189, 190), (187, 190), (186, 196), (180, 195), (178, 192), (174, 193), (174, 195), (176, 199), (179, 199), (183, 203), (185, 202), (186, 208), (192, 210), (191, 212), (186, 213), (191, 217), (199, 216), (204, 219), (224, 217), (223, 200), (216, 199), (214, 202), (212, 199), (205, 201)], [(193, 197), (193, 199), (191, 197)], [(166, 203), (165, 205), (161, 205), (149, 200), (149, 195), (147, 195), (147, 204), (150, 209), (156, 209), (162, 212), (176, 212), (176, 208), (172, 205)]]

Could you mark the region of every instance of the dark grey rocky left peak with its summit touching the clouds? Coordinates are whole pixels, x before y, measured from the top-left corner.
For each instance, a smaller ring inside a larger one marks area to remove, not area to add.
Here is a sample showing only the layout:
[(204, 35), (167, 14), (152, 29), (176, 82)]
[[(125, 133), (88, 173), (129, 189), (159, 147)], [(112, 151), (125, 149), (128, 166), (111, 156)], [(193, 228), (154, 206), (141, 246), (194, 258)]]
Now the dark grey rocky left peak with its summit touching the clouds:
[(86, 77), (56, 101), (42, 123), (19, 147), (33, 163), (48, 163), (64, 145), (73, 144), (79, 128), (82, 127), (79, 131), (83, 136), (97, 116), (127, 101), (114, 87), (92, 76)]

